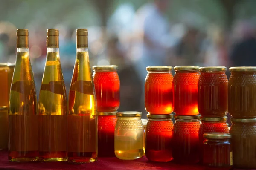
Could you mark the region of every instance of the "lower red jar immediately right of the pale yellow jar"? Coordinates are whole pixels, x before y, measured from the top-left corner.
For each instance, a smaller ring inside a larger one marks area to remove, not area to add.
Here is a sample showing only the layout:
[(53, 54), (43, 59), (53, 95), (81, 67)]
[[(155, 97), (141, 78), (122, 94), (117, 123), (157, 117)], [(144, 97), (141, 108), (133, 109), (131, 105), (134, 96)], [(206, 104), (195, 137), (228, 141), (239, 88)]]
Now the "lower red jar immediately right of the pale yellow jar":
[(150, 161), (172, 160), (173, 115), (147, 115), (146, 157)]

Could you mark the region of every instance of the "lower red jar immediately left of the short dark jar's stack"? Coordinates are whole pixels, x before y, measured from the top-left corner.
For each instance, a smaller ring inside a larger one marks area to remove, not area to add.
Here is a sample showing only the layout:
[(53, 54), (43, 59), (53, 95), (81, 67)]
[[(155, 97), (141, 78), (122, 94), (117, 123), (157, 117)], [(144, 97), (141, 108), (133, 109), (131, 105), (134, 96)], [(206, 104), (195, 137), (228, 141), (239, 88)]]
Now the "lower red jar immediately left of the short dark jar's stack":
[(175, 124), (172, 130), (172, 156), (175, 162), (181, 164), (196, 164), (199, 161), (198, 132), (200, 115), (174, 116)]

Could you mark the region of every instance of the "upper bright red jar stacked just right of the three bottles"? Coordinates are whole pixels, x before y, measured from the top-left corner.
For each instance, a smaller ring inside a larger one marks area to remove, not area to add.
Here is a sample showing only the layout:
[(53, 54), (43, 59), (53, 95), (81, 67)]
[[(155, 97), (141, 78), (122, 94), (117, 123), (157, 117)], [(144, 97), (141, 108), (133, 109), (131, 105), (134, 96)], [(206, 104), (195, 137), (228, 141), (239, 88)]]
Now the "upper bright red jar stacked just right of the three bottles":
[(117, 66), (93, 66), (98, 112), (114, 112), (120, 105), (120, 80)]

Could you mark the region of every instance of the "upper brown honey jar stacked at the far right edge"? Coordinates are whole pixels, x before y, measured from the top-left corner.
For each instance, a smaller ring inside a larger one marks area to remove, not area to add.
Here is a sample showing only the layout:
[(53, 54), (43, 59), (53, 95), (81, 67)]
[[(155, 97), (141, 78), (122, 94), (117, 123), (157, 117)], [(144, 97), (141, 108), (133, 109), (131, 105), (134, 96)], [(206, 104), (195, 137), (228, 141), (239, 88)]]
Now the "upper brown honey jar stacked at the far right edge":
[(230, 67), (228, 112), (233, 118), (256, 118), (256, 67)]

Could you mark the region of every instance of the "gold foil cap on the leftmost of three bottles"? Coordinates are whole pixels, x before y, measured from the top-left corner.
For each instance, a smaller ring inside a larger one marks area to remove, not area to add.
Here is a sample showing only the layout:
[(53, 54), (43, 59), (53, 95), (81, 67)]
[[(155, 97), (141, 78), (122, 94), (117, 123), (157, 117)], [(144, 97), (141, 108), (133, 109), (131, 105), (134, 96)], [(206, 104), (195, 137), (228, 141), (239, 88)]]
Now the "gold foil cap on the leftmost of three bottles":
[(29, 48), (28, 29), (17, 29), (17, 48)]

